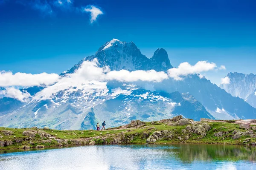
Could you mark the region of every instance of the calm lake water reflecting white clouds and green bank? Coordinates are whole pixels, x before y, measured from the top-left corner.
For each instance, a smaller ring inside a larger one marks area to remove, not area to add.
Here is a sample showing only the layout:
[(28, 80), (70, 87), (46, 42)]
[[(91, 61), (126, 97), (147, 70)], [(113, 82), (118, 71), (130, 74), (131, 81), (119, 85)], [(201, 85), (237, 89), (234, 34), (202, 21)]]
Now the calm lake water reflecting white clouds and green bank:
[[(10, 151), (9, 151), (10, 152)], [(256, 170), (256, 148), (239, 145), (95, 145), (6, 153), (0, 170)]]

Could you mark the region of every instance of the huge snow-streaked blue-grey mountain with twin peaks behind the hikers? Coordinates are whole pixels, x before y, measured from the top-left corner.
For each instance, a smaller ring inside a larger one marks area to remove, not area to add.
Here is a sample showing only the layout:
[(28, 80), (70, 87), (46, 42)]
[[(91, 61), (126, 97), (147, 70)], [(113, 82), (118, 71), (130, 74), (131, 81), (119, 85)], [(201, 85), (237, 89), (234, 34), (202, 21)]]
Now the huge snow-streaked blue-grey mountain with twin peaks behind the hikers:
[[(95, 55), (85, 57), (60, 75), (68, 77), (76, 73), (84, 61), (93, 59), (97, 59), (100, 67), (108, 66), (115, 71), (166, 72), (173, 68), (163, 48), (148, 59), (134, 42), (113, 39), (102, 45)], [(96, 123), (102, 121), (106, 121), (108, 127), (116, 127), (133, 119), (154, 121), (180, 114), (194, 120), (256, 119), (256, 108), (196, 74), (182, 81), (60, 81), (49, 87), (22, 90), (31, 94), (29, 102), (0, 99), (0, 126), (95, 129)]]

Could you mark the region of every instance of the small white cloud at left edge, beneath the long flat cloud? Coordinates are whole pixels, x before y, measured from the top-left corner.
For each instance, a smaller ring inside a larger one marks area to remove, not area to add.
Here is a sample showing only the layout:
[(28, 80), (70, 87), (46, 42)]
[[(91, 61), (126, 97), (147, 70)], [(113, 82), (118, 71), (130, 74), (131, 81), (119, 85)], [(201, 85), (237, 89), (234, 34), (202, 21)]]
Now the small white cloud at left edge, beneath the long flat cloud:
[(6, 90), (0, 91), (0, 95), (17, 99), (21, 102), (26, 102), (29, 99), (29, 97), (31, 97), (28, 92), (21, 92), (20, 90), (14, 87), (6, 88)]

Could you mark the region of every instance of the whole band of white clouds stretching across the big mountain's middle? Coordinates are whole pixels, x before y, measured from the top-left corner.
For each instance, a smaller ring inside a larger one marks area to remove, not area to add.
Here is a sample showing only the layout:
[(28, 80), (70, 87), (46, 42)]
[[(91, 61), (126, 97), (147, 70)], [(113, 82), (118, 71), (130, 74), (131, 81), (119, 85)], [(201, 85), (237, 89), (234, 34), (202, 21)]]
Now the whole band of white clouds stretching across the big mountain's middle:
[(44, 95), (51, 96), (52, 93), (67, 89), (70, 86), (80, 87), (84, 85), (87, 85), (88, 89), (104, 89), (106, 88), (106, 82), (110, 80), (120, 82), (162, 82), (164, 79), (173, 78), (181, 81), (189, 74), (200, 75), (200, 73), (214, 70), (216, 67), (215, 63), (199, 61), (195, 65), (183, 62), (177, 68), (171, 68), (167, 72), (157, 72), (155, 70), (111, 71), (109, 67), (99, 67), (98, 60), (94, 59), (93, 61), (84, 61), (75, 73), (67, 74), (66, 77), (59, 77), (58, 74), (12, 74), (12, 72), (0, 71), (0, 87), (7, 87), (6, 90), (0, 92), (0, 95), (26, 101), (30, 95), (11, 86), (51, 85), (55, 82), (55, 85), (45, 88), (42, 93), (44, 92)]

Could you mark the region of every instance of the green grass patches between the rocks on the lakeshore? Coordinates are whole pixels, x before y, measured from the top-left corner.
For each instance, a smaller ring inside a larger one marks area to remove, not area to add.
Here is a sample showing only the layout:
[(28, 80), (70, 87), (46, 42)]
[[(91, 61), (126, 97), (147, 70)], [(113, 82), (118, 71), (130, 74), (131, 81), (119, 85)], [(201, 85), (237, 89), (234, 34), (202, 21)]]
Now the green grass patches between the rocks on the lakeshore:
[[(244, 129), (240, 129), (239, 125), (229, 123), (229, 122), (209, 122), (208, 123), (211, 126), (211, 129), (207, 131), (207, 135), (203, 138), (199, 139), (201, 137), (200, 134), (192, 133), (190, 134), (190, 137), (188, 140), (182, 140), (180, 141), (177, 137), (180, 136), (181, 138), (184, 138), (184, 136), (187, 136), (188, 133), (183, 133), (182, 130), (185, 129), (187, 125), (183, 126), (169, 126), (165, 123), (160, 122), (154, 122), (154, 125), (151, 124), (151, 122), (145, 122), (145, 125), (139, 128), (129, 128), (128, 129), (120, 129), (120, 127), (114, 127), (107, 130), (43, 130), (52, 136), (55, 137), (55, 139), (67, 139), (66, 142), (61, 143), (63, 146), (69, 146), (76, 145), (75, 139), (89, 139), (94, 140), (96, 144), (111, 144), (113, 141), (113, 138), (118, 136), (120, 133), (125, 134), (125, 139), (131, 139), (131, 136), (133, 136), (133, 140), (128, 140), (128, 143), (131, 144), (144, 144), (146, 143), (146, 139), (143, 138), (143, 133), (147, 133), (148, 135), (151, 135), (154, 133), (154, 131), (160, 131), (160, 130), (171, 130), (172, 131), (172, 140), (168, 139), (161, 139), (158, 140), (157, 144), (163, 144), (163, 143), (205, 143), (205, 144), (244, 144), (243, 141), (246, 138), (250, 138), (250, 136), (241, 136), (239, 139), (232, 139), (233, 131), (234, 130), (240, 130), (240, 131), (246, 131)], [(150, 127), (155, 127), (150, 129)], [(149, 130), (150, 129), (150, 130)], [(49, 139), (49, 138), (41, 138), (38, 134), (36, 134), (35, 138), (32, 140), (25, 140), (27, 136), (24, 136), (22, 133), (24, 130), (28, 130), (28, 128), (23, 129), (17, 129), (17, 128), (6, 128), (6, 127), (0, 127), (1, 130), (11, 130), (14, 133), (11, 136), (5, 136), (3, 133), (0, 132), (0, 135), (3, 136), (3, 138), (0, 138), (0, 141), (7, 141), (11, 140), (14, 142), (13, 145), (7, 146), (7, 147), (0, 147), (0, 150), (2, 149), (21, 149), (23, 146), (28, 145), (30, 147), (36, 147), (37, 145), (44, 145), (45, 147), (57, 147), (60, 144), (55, 139)], [(214, 136), (214, 133), (217, 133), (219, 131), (224, 132), (225, 134), (222, 137)], [(102, 134), (101, 134), (102, 133)], [(254, 131), (255, 133), (255, 131)], [(15, 136), (15, 137), (14, 137)], [(99, 136), (99, 137), (98, 137)], [(105, 141), (102, 139), (105, 137)], [(97, 139), (100, 138), (100, 139)], [(223, 139), (224, 138), (224, 139)], [(23, 139), (22, 142), (17, 143), (15, 142), (15, 139)], [(89, 141), (89, 142), (90, 142)], [(125, 140), (127, 142), (127, 140)], [(256, 142), (256, 138), (250, 138), (250, 142)], [(88, 144), (87, 143), (81, 143), (81, 144)]]

